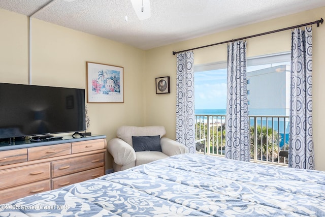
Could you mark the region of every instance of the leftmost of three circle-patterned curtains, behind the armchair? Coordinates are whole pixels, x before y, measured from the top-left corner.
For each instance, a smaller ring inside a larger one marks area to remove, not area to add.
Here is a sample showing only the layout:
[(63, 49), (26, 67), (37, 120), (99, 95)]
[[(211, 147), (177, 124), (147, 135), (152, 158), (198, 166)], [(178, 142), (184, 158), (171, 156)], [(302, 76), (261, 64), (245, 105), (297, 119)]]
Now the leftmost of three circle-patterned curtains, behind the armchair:
[(196, 148), (193, 51), (177, 54), (176, 85), (176, 141), (186, 145), (189, 152), (194, 153)]

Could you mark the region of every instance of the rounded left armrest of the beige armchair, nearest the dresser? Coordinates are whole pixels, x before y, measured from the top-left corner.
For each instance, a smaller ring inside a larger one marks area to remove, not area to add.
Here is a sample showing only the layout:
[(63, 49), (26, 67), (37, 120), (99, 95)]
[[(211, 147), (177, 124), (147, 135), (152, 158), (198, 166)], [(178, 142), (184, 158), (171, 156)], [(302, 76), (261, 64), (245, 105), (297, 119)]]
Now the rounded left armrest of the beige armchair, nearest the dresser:
[(136, 161), (135, 150), (122, 139), (114, 138), (108, 141), (107, 150), (118, 165), (123, 166)]

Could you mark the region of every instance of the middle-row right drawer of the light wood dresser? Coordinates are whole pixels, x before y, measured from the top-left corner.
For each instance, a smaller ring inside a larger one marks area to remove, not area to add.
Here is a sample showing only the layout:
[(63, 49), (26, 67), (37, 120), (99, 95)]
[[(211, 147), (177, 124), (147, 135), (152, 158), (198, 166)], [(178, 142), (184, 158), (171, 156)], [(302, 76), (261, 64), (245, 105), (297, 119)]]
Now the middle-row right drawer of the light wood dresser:
[(58, 177), (104, 166), (104, 153), (51, 162), (51, 175)]

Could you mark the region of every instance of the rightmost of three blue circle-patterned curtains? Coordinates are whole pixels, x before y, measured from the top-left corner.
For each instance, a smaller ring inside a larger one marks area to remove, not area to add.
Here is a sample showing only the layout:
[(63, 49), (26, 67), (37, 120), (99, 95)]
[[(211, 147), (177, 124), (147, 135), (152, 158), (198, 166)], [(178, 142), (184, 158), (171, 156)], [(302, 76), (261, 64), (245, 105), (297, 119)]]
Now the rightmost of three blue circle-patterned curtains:
[(291, 40), (289, 167), (314, 169), (311, 26), (295, 28)]

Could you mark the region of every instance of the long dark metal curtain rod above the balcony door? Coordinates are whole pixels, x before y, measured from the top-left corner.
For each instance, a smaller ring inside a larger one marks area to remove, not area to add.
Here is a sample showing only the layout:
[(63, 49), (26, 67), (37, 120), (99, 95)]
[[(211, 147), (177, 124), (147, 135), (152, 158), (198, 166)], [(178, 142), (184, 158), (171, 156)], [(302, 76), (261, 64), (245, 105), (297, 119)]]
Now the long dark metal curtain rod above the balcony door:
[(187, 50), (173, 51), (173, 55), (175, 55), (177, 53), (189, 51), (189, 50), (196, 50), (196, 49), (205, 48), (205, 47), (211, 47), (211, 46), (215, 46), (215, 45), (219, 45), (219, 44), (225, 44), (225, 43), (229, 43), (229, 42), (234, 42), (234, 41), (249, 39), (249, 38), (253, 38), (253, 37), (257, 37), (257, 36), (264, 36), (264, 35), (268, 35), (268, 34), (271, 34), (271, 33), (277, 33), (277, 32), (281, 32), (281, 31), (284, 31), (284, 30), (298, 28), (298, 27), (306, 26), (306, 25), (317, 24), (317, 27), (318, 27), (319, 26), (319, 23), (320, 24), (323, 24), (323, 22), (324, 22), (323, 18), (320, 18), (320, 20), (316, 20), (314, 22), (309, 22), (309, 23), (304, 23), (304, 24), (300, 24), (300, 25), (290, 26), (290, 27), (281, 28), (281, 29), (277, 29), (277, 30), (272, 30), (272, 31), (266, 32), (266, 33), (259, 33), (259, 34), (252, 35), (252, 36), (246, 36), (246, 37), (242, 37), (242, 38), (238, 38), (238, 39), (232, 39), (232, 40), (228, 40), (228, 41), (224, 41), (224, 42), (218, 42), (218, 43), (215, 43), (215, 44), (209, 44), (209, 45), (205, 45), (205, 46), (201, 46), (201, 47), (195, 47), (195, 48), (191, 48), (191, 49), (187, 49)]

